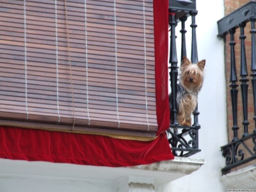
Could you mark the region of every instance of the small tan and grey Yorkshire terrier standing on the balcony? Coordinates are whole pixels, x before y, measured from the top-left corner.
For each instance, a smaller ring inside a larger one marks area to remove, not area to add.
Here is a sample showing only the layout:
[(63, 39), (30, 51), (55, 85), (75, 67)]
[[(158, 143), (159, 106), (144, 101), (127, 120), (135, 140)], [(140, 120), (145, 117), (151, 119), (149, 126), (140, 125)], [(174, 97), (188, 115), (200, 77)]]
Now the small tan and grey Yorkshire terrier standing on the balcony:
[(204, 81), (204, 66), (205, 60), (197, 64), (191, 63), (186, 56), (182, 60), (177, 84), (177, 121), (180, 125), (191, 126), (191, 114), (196, 108), (197, 95)]

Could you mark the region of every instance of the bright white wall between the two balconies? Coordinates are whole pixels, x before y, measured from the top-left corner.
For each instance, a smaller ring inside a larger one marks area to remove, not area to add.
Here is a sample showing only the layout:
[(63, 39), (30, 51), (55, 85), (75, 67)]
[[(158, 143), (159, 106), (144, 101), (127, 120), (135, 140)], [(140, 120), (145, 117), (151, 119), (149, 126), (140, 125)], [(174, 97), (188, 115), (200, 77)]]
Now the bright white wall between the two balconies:
[[(174, 180), (157, 191), (224, 191), (220, 182), (221, 168), (225, 159), (221, 156), (220, 147), (227, 144), (226, 130), (226, 96), (225, 96), (225, 66), (224, 43), (217, 37), (217, 20), (224, 16), (223, 0), (209, 2), (197, 0), (196, 36), (198, 45), (198, 60), (206, 60), (205, 81), (198, 99), (200, 111), (199, 147), (202, 152), (192, 156), (205, 159), (206, 164), (200, 170), (180, 179)], [(187, 20), (187, 55), (191, 57), (191, 17)], [(180, 25), (177, 26), (177, 34)], [(177, 51), (180, 52), (180, 35), (177, 35)], [(178, 53), (180, 59), (180, 54)]]

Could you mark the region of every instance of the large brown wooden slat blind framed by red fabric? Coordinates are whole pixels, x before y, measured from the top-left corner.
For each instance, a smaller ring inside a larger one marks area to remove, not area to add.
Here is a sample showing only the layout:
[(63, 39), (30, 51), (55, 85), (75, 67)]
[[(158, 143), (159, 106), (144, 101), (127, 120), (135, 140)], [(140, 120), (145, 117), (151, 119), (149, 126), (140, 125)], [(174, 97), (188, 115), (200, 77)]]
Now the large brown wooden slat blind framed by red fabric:
[(152, 0), (0, 5), (1, 124), (154, 136)]

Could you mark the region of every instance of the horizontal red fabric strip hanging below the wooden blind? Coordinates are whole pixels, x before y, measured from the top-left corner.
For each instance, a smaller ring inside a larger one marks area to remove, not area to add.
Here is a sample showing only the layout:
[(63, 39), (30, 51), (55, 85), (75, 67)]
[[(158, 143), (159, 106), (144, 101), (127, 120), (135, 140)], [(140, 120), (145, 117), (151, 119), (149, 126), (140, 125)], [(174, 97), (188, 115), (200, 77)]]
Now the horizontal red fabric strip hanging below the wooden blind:
[(0, 127), (0, 134), (6, 159), (112, 167), (173, 159), (164, 134), (150, 142), (14, 127)]

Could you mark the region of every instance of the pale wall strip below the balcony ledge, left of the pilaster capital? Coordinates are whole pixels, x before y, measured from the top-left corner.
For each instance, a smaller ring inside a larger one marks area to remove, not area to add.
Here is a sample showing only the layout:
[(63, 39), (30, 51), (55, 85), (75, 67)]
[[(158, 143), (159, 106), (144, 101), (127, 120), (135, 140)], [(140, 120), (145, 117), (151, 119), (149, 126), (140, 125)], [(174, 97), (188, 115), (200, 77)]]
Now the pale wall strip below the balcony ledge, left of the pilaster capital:
[(68, 192), (68, 191), (115, 191), (115, 185), (105, 180), (56, 179), (52, 177), (35, 177), (35, 175), (17, 175), (17, 177), (0, 177), (0, 188), (4, 192)]

